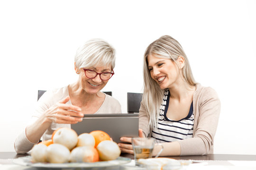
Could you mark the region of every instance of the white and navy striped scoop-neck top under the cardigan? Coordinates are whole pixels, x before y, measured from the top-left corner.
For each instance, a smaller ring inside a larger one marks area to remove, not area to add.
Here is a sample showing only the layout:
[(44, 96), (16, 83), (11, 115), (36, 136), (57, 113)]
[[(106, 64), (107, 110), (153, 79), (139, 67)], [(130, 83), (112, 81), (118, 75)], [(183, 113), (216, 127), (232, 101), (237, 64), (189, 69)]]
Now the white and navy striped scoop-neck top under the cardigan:
[(174, 121), (166, 117), (169, 99), (170, 92), (169, 90), (166, 90), (159, 111), (158, 127), (153, 128), (151, 135), (155, 138), (156, 143), (174, 142), (177, 140), (191, 138), (193, 136), (193, 102), (191, 103), (188, 115), (183, 119)]

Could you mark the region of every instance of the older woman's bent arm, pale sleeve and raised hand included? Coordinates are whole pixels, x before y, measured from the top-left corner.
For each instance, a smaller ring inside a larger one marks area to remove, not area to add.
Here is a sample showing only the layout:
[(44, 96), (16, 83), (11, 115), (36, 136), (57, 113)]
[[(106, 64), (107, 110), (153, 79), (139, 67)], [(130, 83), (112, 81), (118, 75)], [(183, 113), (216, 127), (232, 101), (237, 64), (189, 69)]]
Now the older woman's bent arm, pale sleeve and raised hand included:
[(27, 153), (34, 144), (37, 144), (41, 136), (50, 127), (52, 122), (73, 124), (81, 121), (83, 114), (79, 107), (65, 104), (69, 101), (69, 96), (42, 113), (32, 124), (28, 125), (24, 131), (16, 138), (14, 148), (17, 153)]

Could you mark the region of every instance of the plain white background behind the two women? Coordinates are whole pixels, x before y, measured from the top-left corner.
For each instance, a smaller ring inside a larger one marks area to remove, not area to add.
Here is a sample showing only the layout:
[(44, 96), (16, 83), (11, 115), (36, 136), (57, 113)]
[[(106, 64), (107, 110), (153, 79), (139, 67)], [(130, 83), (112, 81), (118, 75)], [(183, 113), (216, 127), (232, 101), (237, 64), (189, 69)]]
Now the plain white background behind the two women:
[(168, 34), (196, 81), (219, 94), (215, 153), (256, 154), (255, 9), (254, 0), (1, 0), (0, 151), (14, 151), (38, 89), (77, 80), (73, 58), (82, 43), (102, 38), (116, 49), (103, 91), (127, 112), (127, 92), (143, 92), (147, 45)]

